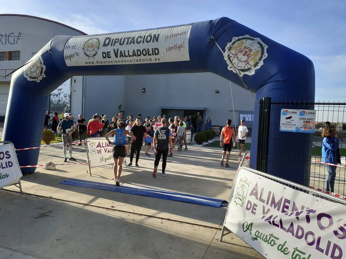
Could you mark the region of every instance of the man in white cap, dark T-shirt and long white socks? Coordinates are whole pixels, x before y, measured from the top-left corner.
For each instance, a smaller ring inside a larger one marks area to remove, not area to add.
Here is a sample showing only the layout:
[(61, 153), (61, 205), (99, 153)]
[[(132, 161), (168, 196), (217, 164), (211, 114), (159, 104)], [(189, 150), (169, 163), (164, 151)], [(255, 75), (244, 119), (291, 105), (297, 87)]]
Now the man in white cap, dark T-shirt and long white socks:
[[(67, 157), (66, 157), (67, 145), (69, 146), (72, 145), (72, 142), (73, 142), (72, 132), (74, 132), (76, 126), (74, 125), (73, 120), (70, 119), (69, 113), (65, 113), (64, 117), (65, 119), (59, 122), (57, 131), (61, 133), (62, 135), (63, 144), (64, 144), (64, 148), (63, 148), (64, 162), (67, 162)], [(70, 161), (76, 161), (76, 159), (72, 157), (72, 147), (69, 148), (69, 155), (70, 155), (70, 158), (69, 158)]]

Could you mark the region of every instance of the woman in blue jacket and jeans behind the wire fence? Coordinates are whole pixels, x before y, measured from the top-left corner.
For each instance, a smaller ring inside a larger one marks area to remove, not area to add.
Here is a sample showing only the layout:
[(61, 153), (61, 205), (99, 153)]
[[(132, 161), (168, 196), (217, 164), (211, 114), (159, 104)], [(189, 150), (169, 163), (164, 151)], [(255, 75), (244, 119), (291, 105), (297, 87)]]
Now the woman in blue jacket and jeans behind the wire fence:
[[(336, 128), (329, 125), (322, 131), (322, 162), (337, 164), (339, 140), (336, 135)], [(334, 182), (336, 176), (336, 166), (327, 165), (327, 177), (325, 182), (325, 190), (334, 192)]]

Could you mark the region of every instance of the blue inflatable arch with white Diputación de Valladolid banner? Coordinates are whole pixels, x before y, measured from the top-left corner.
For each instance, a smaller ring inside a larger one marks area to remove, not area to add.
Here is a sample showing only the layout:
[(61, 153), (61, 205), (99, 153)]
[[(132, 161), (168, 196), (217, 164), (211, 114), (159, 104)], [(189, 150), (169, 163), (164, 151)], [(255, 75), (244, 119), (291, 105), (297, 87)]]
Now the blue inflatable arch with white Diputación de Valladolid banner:
[[(140, 31), (56, 36), (12, 75), (3, 140), (13, 142), (16, 148), (39, 146), (49, 95), (72, 76), (212, 72), (244, 87), (235, 69), (256, 93), (257, 100), (265, 96), (273, 102), (315, 97), (315, 71), (307, 57), (226, 17)], [(249, 100), (249, 105), (253, 102)], [(24, 118), (20, 125), (13, 114)], [(255, 104), (254, 125), (257, 117)], [(277, 124), (280, 116), (272, 115), (271, 120)], [(309, 156), (310, 150), (305, 148), (307, 134), (292, 134), (272, 127), (270, 137), (275, 138), (275, 143), (270, 143), (269, 153), (278, 158), (287, 157), (290, 152), (296, 157)], [(290, 145), (290, 137), (301, 146)], [(256, 150), (254, 126), (252, 167), (256, 164)], [(38, 156), (39, 149), (18, 151), (20, 165), (36, 165)], [(288, 157), (286, 162), (293, 160)], [(282, 160), (274, 159), (268, 164), (268, 173), (297, 182), (309, 171), (306, 165), (290, 168), (281, 172)], [(22, 173), (33, 173), (35, 169), (23, 168)]]

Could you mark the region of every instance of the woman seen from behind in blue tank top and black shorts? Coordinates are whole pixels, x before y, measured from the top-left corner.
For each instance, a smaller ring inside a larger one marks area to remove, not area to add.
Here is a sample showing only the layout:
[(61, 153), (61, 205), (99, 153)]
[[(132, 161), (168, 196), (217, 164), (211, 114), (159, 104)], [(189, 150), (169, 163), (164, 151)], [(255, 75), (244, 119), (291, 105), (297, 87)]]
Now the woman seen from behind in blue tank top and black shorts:
[[(116, 185), (120, 185), (120, 175), (122, 171), (122, 162), (124, 162), (124, 158), (126, 156), (126, 135), (131, 137), (130, 143), (136, 139), (135, 135), (131, 132), (125, 130), (126, 123), (118, 120), (118, 128), (108, 132), (104, 137), (108, 141), (109, 144), (113, 143), (113, 159), (114, 159), (114, 181)], [(109, 140), (110, 135), (114, 135), (113, 142)]]

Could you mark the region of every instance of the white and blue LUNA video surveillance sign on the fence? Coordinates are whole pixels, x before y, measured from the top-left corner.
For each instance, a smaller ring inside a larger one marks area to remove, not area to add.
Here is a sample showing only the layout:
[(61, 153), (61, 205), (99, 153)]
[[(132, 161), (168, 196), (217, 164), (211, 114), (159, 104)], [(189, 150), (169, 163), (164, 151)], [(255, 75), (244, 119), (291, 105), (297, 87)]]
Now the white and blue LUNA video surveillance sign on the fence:
[(281, 109), (280, 131), (314, 133), (315, 110)]

